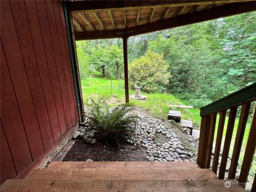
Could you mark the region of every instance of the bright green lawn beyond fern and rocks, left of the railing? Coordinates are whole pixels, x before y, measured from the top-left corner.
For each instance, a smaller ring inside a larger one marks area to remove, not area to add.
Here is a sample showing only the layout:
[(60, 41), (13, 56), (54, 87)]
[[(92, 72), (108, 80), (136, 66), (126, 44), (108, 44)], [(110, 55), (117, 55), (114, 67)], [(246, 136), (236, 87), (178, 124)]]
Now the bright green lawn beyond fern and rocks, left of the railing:
[[(120, 85), (120, 86), (119, 86)], [(113, 94), (116, 94), (117, 100), (125, 101), (124, 81), (120, 82), (117, 79), (112, 80), (111, 91), (111, 79), (105, 78), (87, 78), (81, 81), (83, 90), (84, 102), (87, 101), (92, 95), (94, 98), (111, 98)], [(120, 87), (120, 88), (119, 88)], [(134, 91), (129, 90), (130, 94), (135, 94)], [(146, 101), (130, 100), (135, 106), (150, 110), (154, 117), (166, 119), (170, 105), (188, 105), (186, 101), (180, 100), (172, 94), (165, 93), (143, 93), (147, 96)], [(174, 108), (175, 109), (175, 108)], [(200, 124), (201, 118), (199, 116), (199, 109), (180, 109), (181, 116), (184, 119), (190, 119), (196, 124)]]

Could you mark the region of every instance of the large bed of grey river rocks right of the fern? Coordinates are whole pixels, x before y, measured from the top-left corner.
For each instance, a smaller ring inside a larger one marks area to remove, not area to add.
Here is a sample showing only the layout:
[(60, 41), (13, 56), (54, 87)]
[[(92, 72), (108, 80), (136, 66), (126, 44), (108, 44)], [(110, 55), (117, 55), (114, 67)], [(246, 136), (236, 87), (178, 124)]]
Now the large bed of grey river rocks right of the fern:
[[(159, 119), (146, 116), (142, 112), (134, 112), (140, 119), (135, 127), (135, 136), (127, 139), (130, 145), (140, 145), (147, 149), (148, 161), (194, 161), (194, 154), (189, 153), (169, 126)], [(159, 137), (159, 134), (162, 137)]]

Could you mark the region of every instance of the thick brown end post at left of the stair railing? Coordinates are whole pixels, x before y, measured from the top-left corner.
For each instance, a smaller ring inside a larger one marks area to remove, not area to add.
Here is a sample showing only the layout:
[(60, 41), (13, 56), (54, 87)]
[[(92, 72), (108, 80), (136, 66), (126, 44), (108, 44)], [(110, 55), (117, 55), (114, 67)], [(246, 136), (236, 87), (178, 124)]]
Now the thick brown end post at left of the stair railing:
[(215, 115), (206, 115), (201, 119), (197, 163), (202, 169), (206, 169), (208, 166), (208, 161), (211, 160), (209, 159), (209, 153), (211, 153), (210, 148), (212, 145), (210, 146), (209, 143), (211, 141), (211, 127), (213, 124), (215, 124), (213, 123)]

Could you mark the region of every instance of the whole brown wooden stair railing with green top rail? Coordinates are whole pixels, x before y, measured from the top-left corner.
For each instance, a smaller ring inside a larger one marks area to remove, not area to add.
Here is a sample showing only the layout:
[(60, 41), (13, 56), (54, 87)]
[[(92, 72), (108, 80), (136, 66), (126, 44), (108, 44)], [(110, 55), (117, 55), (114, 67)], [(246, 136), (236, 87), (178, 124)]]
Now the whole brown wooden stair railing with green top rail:
[[(203, 169), (209, 169), (212, 156), (213, 139), (215, 132), (215, 125), (217, 114), (219, 113), (219, 124), (217, 130), (217, 138), (215, 141), (215, 150), (213, 157), (212, 170), (217, 174), (219, 156), (221, 149), (222, 134), (224, 130), (225, 119), (227, 110), (229, 110), (229, 117), (226, 129), (225, 141), (223, 144), (223, 151), (219, 169), (219, 179), (225, 178), (225, 171), (227, 166), (228, 154), (231, 144), (231, 139), (234, 130), (234, 124), (237, 115), (237, 108), (242, 106), (237, 126), (236, 138), (234, 142), (233, 155), (231, 156), (231, 164), (229, 167), (228, 179), (235, 179), (237, 171), (238, 158), (240, 155), (242, 142), (244, 139), (244, 132), (249, 117), (251, 102), (256, 100), (256, 83), (245, 87), (233, 94), (228, 95), (218, 101), (211, 103), (201, 108), (201, 130), (198, 146), (197, 163)], [(255, 102), (256, 103), (256, 102)], [(253, 108), (253, 114), (250, 125), (250, 133), (247, 139), (245, 148), (241, 173), (239, 182), (246, 182), (249, 174), (250, 166), (252, 163), (253, 154), (256, 147), (256, 104)], [(255, 182), (254, 182), (255, 183)], [(254, 186), (255, 187), (255, 186)]]

